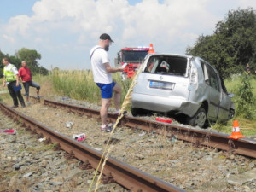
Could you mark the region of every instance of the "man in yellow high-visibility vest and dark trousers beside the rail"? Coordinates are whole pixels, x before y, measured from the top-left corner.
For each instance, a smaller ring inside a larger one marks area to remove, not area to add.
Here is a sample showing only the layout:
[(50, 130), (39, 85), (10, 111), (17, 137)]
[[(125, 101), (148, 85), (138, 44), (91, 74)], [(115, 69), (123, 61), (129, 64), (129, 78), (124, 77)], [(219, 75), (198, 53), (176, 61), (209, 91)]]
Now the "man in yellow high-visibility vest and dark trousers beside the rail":
[[(19, 89), (19, 72), (15, 65), (9, 63), (9, 58), (3, 58), (3, 87), (7, 85), (9, 90), (9, 95), (13, 98), (14, 106), (11, 108), (18, 108), (19, 102), (21, 104), (21, 108), (25, 108), (25, 102), (23, 96), (21, 95), (21, 91)], [(18, 97), (18, 99), (17, 99)]]

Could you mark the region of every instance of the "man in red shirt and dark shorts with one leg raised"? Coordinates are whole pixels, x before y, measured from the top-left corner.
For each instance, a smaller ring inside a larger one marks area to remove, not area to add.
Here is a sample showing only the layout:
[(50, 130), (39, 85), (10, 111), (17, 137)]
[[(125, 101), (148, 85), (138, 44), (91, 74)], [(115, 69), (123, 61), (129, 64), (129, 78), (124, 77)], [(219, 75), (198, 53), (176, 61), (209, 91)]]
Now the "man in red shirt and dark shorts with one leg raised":
[(32, 82), (32, 74), (30, 68), (26, 67), (26, 61), (22, 61), (21, 65), (22, 67), (19, 69), (19, 76), (25, 89), (26, 103), (30, 105), (31, 103), (29, 102), (29, 87), (35, 87), (37, 89), (37, 96), (39, 98), (40, 86)]

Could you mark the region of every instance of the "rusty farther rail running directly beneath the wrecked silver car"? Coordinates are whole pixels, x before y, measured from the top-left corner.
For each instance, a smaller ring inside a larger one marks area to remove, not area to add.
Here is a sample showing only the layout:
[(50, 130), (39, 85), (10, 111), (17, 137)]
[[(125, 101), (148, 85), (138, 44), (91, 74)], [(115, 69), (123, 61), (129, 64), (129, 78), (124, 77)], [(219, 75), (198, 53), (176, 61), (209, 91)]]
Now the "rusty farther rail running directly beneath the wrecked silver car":
[[(54, 102), (44, 99), (44, 105), (52, 108), (67, 108), (69, 111), (84, 114), (89, 117), (100, 117), (100, 111), (92, 108), (84, 108), (78, 105), (71, 105), (63, 102)], [(108, 120), (114, 122), (117, 119), (115, 113), (108, 113)], [(195, 145), (204, 145), (211, 148), (228, 151), (234, 154), (242, 154), (248, 157), (256, 158), (256, 140), (243, 137), (238, 140), (229, 139), (229, 135), (217, 131), (207, 131), (196, 129), (188, 125), (166, 124), (153, 120), (146, 120), (125, 115), (120, 120), (120, 125), (126, 125), (131, 128), (139, 128), (144, 131), (155, 131), (160, 134), (166, 134), (167, 137), (177, 136), (178, 139), (195, 143)], [(231, 131), (231, 128), (230, 128)]]

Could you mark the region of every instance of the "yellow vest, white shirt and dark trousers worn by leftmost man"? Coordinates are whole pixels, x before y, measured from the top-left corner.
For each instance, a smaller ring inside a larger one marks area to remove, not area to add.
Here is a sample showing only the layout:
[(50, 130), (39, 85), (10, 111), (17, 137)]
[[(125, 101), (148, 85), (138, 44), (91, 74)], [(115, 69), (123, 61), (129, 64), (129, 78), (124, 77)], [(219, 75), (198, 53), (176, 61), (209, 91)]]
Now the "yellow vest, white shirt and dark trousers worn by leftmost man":
[(14, 101), (13, 108), (18, 108), (19, 106), (18, 99), (20, 101), (21, 106), (25, 107), (25, 102), (23, 100), (23, 96), (21, 96), (21, 91), (15, 90), (16, 76), (18, 74), (19, 72), (17, 71), (17, 68), (13, 64), (9, 63), (7, 66), (3, 68), (3, 76), (9, 90), (9, 95), (13, 98), (13, 101)]

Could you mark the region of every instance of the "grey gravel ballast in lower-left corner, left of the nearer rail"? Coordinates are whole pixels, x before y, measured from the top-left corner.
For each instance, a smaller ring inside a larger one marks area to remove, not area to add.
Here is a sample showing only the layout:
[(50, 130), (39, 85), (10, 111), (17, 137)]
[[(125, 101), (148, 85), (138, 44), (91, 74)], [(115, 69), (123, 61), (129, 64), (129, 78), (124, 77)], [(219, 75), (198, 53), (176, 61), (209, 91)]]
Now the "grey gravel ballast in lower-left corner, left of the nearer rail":
[[(0, 112), (0, 128), (15, 129), (16, 135), (0, 133), (0, 191), (86, 191), (94, 170), (79, 169), (79, 160), (66, 160), (55, 144), (44, 145), (35, 135)], [(98, 191), (127, 191), (116, 183), (101, 184)]]

